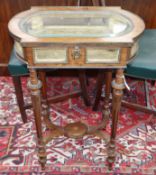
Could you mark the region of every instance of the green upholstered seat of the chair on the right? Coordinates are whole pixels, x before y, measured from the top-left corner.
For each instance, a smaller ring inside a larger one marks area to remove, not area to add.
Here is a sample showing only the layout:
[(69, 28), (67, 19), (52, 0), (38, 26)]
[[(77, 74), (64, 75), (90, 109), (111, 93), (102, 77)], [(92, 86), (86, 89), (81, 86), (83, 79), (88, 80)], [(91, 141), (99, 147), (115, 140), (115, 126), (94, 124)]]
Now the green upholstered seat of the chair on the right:
[(156, 30), (145, 30), (134, 61), (128, 64), (126, 74), (132, 77), (156, 80)]

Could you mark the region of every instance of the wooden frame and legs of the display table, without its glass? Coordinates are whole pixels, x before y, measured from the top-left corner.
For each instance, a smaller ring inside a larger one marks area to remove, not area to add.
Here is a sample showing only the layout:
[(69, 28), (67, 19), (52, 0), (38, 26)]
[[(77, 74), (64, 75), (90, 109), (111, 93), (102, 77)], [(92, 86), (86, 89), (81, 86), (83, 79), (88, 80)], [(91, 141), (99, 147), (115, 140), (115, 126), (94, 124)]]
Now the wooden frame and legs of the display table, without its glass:
[[(18, 26), (19, 21), (27, 15), (34, 13), (39, 10), (59, 10), (59, 11), (78, 11), (78, 10), (113, 10), (115, 12), (119, 12), (121, 14), (126, 15), (131, 21), (134, 22), (133, 30), (129, 33), (115, 37), (115, 38), (35, 38), (21, 31)], [(42, 86), (42, 82), (38, 79), (37, 69), (40, 68), (101, 68), (101, 69), (116, 69), (116, 78), (112, 82), (113, 87), (113, 104), (112, 104), (112, 127), (111, 127), (111, 136), (110, 136), (110, 144), (108, 148), (108, 162), (109, 168), (112, 167), (112, 163), (115, 161), (115, 138), (116, 138), (116, 130), (118, 123), (118, 113), (121, 107), (121, 99), (123, 95), (124, 89), (124, 68), (127, 65), (127, 60), (130, 58), (131, 49), (135, 43), (135, 41), (139, 38), (141, 33), (143, 32), (145, 26), (144, 22), (136, 15), (122, 10), (119, 7), (34, 7), (29, 11), (23, 12), (19, 15), (16, 15), (9, 23), (9, 31), (14, 38), (15, 41), (20, 42), (23, 50), (24, 57), (28, 61), (28, 68), (30, 71), (30, 79), (28, 82), (28, 87), (31, 90), (32, 96), (32, 104), (34, 109), (35, 116), (35, 124), (37, 130), (37, 138), (38, 138), (38, 156), (39, 162), (42, 166), (42, 169), (45, 169), (46, 165), (46, 149), (45, 143), (49, 141), (49, 138), (43, 138), (42, 133), (42, 120), (41, 116), (44, 116), (47, 127), (51, 128), (54, 132), (54, 135), (60, 135), (63, 133), (62, 128), (56, 127), (51, 124), (49, 120), (49, 112), (48, 112), (48, 102), (47, 99), (44, 99), (44, 107), (41, 104), (41, 94), (40, 88)], [(65, 46), (68, 48), (68, 58), (69, 62), (67, 64), (49, 64), (49, 63), (35, 63), (34, 62), (34, 48), (46, 48), (46, 47), (54, 47), (55, 45)], [(75, 46), (80, 47), (80, 60), (73, 61), (71, 52), (74, 50)], [(86, 59), (86, 47), (102, 47), (102, 48), (120, 48), (120, 59), (118, 63), (97, 63), (97, 64), (87, 64), (84, 62)], [(130, 61), (130, 60), (129, 60)], [(108, 81), (110, 84), (110, 74), (109, 71), (107, 73)], [(110, 115), (109, 110), (109, 95), (110, 88), (106, 89), (106, 97), (104, 101), (104, 109), (103, 115), (105, 122), (108, 120)], [(44, 98), (44, 96), (43, 96)], [(44, 108), (44, 109), (43, 109)], [(82, 125), (80, 125), (83, 128)], [(85, 131), (84, 131), (85, 133)], [(83, 134), (84, 134), (83, 133)], [(82, 134), (82, 135), (83, 135)], [(52, 136), (53, 137), (53, 136)]]

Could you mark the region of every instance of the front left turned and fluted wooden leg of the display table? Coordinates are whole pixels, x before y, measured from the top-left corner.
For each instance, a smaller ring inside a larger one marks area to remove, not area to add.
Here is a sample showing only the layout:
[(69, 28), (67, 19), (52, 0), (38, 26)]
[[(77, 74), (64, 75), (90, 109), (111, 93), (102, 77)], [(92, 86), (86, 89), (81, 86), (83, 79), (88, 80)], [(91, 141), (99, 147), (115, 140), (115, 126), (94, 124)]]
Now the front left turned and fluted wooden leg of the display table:
[(42, 136), (42, 121), (41, 121), (41, 96), (40, 96), (40, 88), (41, 82), (37, 78), (36, 71), (34, 69), (30, 69), (30, 80), (28, 81), (28, 87), (31, 90), (32, 96), (32, 104), (35, 116), (35, 124), (36, 131), (38, 137), (38, 156), (39, 162), (41, 164), (42, 169), (45, 169), (46, 164), (46, 150), (45, 144)]

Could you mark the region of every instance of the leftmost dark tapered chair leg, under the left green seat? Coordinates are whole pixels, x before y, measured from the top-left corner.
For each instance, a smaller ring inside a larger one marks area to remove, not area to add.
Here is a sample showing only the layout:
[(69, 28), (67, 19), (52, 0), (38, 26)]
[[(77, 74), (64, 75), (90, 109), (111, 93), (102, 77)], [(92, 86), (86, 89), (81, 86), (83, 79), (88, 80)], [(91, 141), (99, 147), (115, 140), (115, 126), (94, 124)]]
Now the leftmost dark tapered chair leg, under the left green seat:
[(21, 80), (19, 76), (13, 76), (13, 83), (15, 87), (15, 93), (16, 93), (16, 98), (17, 98), (17, 103), (19, 106), (19, 110), (21, 113), (21, 117), (24, 123), (27, 122), (27, 116), (24, 108), (24, 100), (23, 100), (23, 92), (22, 92), (22, 85), (21, 85)]

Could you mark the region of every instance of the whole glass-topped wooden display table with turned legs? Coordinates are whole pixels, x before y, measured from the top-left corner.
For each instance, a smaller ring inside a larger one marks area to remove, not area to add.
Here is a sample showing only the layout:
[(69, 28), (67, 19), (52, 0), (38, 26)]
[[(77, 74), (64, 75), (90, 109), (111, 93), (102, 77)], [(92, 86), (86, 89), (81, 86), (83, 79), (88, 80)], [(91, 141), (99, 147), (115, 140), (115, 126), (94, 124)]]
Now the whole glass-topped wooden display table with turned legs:
[[(120, 7), (32, 7), (10, 20), (9, 31), (15, 42), (16, 54), (27, 62), (30, 71), (28, 87), (32, 95), (38, 157), (43, 169), (46, 165), (46, 143), (50, 139), (43, 138), (42, 112), (47, 118), (47, 127), (50, 126), (51, 132), (58, 132), (58, 135), (79, 138), (89, 131), (82, 122), (71, 123), (64, 128), (50, 123), (48, 108), (41, 110), (42, 82), (36, 71), (43, 68), (116, 69), (116, 78), (112, 82), (112, 125), (108, 149), (111, 164), (115, 160), (118, 113), (125, 87), (123, 71), (138, 50), (139, 36), (144, 28), (142, 19)], [(103, 118), (108, 115), (108, 98), (105, 98)]]

